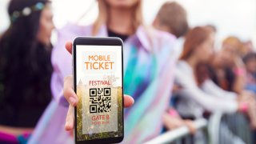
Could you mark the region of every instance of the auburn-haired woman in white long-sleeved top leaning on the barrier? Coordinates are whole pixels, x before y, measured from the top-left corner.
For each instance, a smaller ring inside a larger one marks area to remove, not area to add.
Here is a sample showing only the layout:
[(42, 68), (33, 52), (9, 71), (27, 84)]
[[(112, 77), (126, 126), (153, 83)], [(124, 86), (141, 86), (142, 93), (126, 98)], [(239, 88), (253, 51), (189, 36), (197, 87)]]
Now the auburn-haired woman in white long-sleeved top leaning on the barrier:
[[(186, 35), (184, 51), (175, 82), (182, 87), (178, 92), (178, 111), (185, 118), (202, 118), (205, 110), (210, 112), (249, 113), (250, 103), (238, 95), (222, 90), (210, 80), (208, 74), (198, 74), (201, 64), (210, 62), (214, 51), (214, 33), (208, 27), (195, 27)], [(252, 126), (254, 118), (250, 118)]]

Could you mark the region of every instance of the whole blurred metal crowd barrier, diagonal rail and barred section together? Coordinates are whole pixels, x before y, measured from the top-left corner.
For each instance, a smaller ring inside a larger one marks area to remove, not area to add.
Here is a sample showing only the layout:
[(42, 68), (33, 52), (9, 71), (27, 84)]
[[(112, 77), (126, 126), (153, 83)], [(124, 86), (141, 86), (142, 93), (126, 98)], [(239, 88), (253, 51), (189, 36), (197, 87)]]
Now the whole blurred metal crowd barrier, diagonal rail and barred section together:
[[(198, 119), (194, 122), (198, 131), (204, 131), (206, 141), (200, 143), (210, 144), (253, 144), (250, 126), (243, 114), (216, 113), (210, 116), (209, 121)], [(155, 143), (193, 143), (190, 131), (186, 126), (170, 130), (157, 138), (151, 139), (147, 144)], [(201, 137), (203, 138), (203, 137)], [(183, 140), (183, 141), (181, 141)], [(200, 139), (199, 139), (200, 140)], [(197, 142), (194, 142), (197, 143)]]

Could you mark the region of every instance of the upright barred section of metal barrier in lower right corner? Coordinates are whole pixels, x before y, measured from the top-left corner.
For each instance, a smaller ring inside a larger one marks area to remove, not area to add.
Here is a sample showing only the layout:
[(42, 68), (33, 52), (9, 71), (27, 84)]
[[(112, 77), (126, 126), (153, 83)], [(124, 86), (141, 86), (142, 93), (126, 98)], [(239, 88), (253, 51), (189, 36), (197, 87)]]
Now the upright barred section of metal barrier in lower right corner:
[(252, 144), (249, 123), (244, 114), (213, 114), (208, 126), (210, 142), (212, 144)]

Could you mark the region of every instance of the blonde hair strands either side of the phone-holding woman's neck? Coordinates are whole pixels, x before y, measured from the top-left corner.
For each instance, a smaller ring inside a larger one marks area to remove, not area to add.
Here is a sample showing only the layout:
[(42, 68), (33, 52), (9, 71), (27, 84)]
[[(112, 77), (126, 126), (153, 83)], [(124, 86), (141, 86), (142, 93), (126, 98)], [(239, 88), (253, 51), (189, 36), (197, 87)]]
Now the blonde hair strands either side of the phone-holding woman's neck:
[[(106, 0), (98, 0), (98, 18), (94, 22), (92, 35), (96, 35), (102, 25), (106, 24), (109, 20), (110, 6), (106, 3)], [(144, 25), (142, 18), (142, 1), (138, 1), (138, 4), (134, 6), (132, 21), (132, 32), (135, 33), (138, 26)]]

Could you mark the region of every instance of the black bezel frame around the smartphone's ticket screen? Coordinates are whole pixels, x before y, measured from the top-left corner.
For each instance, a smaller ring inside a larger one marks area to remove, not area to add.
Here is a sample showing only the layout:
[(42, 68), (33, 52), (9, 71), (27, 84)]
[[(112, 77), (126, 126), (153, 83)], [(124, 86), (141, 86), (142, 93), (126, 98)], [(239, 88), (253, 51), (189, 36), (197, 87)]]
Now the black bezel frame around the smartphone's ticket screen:
[[(74, 75), (74, 92), (77, 92), (76, 86), (76, 46), (77, 45), (94, 45), (94, 46), (121, 46), (123, 53), (123, 42), (120, 38), (95, 38), (95, 37), (78, 37), (74, 39), (73, 49), (72, 49), (72, 59), (73, 59), (73, 75)], [(122, 96), (123, 96), (123, 54), (122, 54)], [(86, 141), (77, 141), (77, 107), (74, 107), (74, 142), (77, 144), (82, 144), (84, 142), (88, 143), (117, 143), (122, 142), (124, 137), (124, 119), (123, 119), (123, 97), (122, 97), (122, 137), (114, 138), (101, 138)]]

